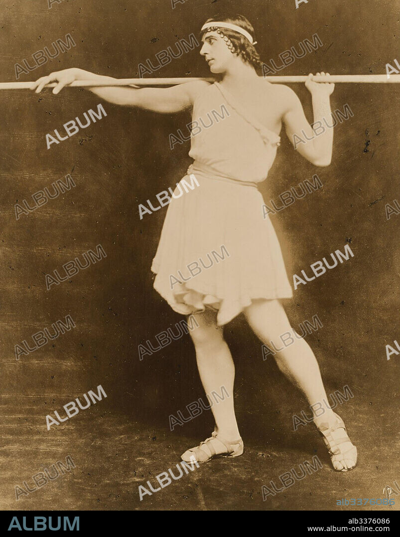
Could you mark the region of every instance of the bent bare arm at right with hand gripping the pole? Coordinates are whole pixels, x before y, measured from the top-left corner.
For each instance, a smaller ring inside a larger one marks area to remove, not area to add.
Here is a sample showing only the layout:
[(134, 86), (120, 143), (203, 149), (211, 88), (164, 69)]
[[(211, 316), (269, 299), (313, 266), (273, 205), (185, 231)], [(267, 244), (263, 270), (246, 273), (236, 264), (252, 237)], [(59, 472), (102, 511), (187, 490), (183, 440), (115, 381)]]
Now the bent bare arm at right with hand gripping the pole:
[[(317, 73), (317, 75), (319, 74)], [(321, 75), (324, 74), (324, 72), (321, 73)], [(322, 125), (322, 119), (330, 123), (332, 119), (329, 96), (334, 91), (335, 84), (313, 82), (312, 76), (308, 75), (306, 87), (312, 95), (314, 124), (321, 121)], [(289, 88), (288, 109), (284, 114), (283, 121), (289, 140), (301, 156), (315, 166), (329, 166), (334, 140), (333, 128), (324, 128), (322, 133), (318, 133), (318, 129), (314, 131), (308, 124), (300, 99)], [(307, 140), (306, 137), (310, 140)]]

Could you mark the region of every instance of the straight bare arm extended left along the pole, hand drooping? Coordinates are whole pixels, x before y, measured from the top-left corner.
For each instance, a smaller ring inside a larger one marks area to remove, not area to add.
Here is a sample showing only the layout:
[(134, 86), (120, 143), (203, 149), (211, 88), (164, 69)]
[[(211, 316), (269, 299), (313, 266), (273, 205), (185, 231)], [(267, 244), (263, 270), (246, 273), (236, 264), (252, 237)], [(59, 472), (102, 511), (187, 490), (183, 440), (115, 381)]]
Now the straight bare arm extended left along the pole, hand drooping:
[(43, 87), (50, 82), (57, 82), (53, 89), (54, 95), (60, 93), (64, 86), (71, 84), (74, 80), (93, 80), (93, 86), (87, 86), (86, 89), (95, 93), (109, 103), (123, 106), (137, 106), (145, 110), (160, 112), (164, 114), (180, 112), (193, 104), (195, 95), (207, 82), (188, 82), (173, 86), (173, 88), (122, 88), (119, 86), (98, 86), (97, 80), (102, 81), (109, 79), (110, 84), (115, 78), (109, 76), (96, 75), (83, 69), (64, 69), (62, 71), (52, 72), (48, 76), (39, 78), (33, 85), (32, 90), (40, 93)]

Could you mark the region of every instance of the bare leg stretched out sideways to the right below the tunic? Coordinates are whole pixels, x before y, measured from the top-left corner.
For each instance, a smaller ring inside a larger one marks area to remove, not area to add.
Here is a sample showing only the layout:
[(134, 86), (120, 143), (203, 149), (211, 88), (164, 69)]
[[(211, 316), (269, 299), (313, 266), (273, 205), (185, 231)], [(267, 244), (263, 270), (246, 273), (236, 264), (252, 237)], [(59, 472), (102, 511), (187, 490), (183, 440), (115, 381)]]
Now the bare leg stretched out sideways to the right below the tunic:
[[(246, 308), (245, 316), (250, 328), (268, 345), (270, 340), (277, 342), (280, 335), (293, 330), (287, 319), (285, 310), (278, 300), (254, 300), (251, 306)], [(325, 408), (322, 415), (316, 415), (318, 409), (321, 409), (323, 401), (328, 401), (325, 388), (322, 383), (320, 368), (316, 361), (315, 355), (310, 346), (304, 339), (298, 339), (292, 336), (294, 343), (285, 347), (282, 351), (275, 354), (274, 358), (277, 365), (289, 380), (295, 386), (301, 389), (306, 396), (314, 414), (314, 423), (320, 428), (323, 423), (334, 426), (336, 423), (335, 413), (331, 408)], [(320, 403), (318, 405), (318, 403)], [(342, 428), (332, 432), (332, 437), (339, 440), (344, 437)], [(343, 452), (351, 449), (351, 442), (343, 442), (340, 449)], [(335, 469), (350, 469), (355, 465), (354, 460), (343, 459), (340, 462), (333, 462)]]

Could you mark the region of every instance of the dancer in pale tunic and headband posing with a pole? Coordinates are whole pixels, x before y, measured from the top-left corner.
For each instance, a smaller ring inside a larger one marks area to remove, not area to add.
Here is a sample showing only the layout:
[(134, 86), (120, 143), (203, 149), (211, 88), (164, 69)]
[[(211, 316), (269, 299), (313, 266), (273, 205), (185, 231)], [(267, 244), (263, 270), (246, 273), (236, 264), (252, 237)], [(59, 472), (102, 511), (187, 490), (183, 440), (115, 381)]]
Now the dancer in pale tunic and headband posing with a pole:
[[(322, 402), (328, 401), (327, 394), (313, 351), (296, 337), (282, 306), (281, 300), (290, 298), (292, 289), (257, 190), (275, 158), (282, 124), (292, 143), (294, 134), (303, 131), (307, 135), (310, 141), (297, 150), (316, 166), (331, 162), (333, 129), (314, 137), (295, 93), (257, 75), (260, 56), (254, 28), (245, 17), (210, 18), (201, 35), (200, 54), (218, 80), (212, 84), (196, 81), (168, 89), (121, 88), (112, 85), (111, 77), (66, 69), (39, 78), (32, 89), (39, 93), (49, 82), (57, 82), (56, 95), (75, 80), (90, 79), (93, 86), (88, 89), (111, 103), (160, 113), (192, 108), (192, 125), (198, 125), (201, 132), (196, 130), (191, 136), (189, 156), (194, 163), (175, 190), (170, 189), (173, 195), (151, 267), (156, 274), (154, 288), (175, 311), (196, 318), (198, 327), (190, 336), (206, 393), (224, 386), (233, 394), (234, 364), (223, 326), (236, 315), (244, 313), (264, 344), (290, 332), (294, 343), (275, 354), (277, 365), (306, 396), (334, 469), (350, 470), (357, 463), (357, 449), (343, 420), (328, 405), (318, 415)], [(100, 78), (109, 78), (110, 86), (96, 87)], [(309, 75), (306, 87), (312, 95), (314, 121), (328, 119), (334, 84), (313, 82)], [(188, 184), (189, 178), (193, 188), (184, 193), (182, 182)], [(184, 461), (194, 456), (206, 462), (243, 453), (233, 396), (213, 405), (212, 412), (216, 422), (212, 436), (184, 452)]]

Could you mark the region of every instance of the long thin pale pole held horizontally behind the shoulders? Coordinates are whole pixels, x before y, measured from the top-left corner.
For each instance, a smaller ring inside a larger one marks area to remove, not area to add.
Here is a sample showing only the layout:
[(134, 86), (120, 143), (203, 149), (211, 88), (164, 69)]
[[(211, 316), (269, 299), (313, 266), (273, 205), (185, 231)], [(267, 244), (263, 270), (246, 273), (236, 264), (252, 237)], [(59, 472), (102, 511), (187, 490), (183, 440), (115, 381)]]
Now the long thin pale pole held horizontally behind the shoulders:
[[(261, 77), (260, 77), (261, 78)], [(294, 82), (306, 82), (307, 76), (265, 76), (264, 80), (268, 82), (277, 82), (280, 84), (290, 84)], [(207, 81), (213, 82), (213, 78), (116, 78), (113, 81), (109, 79), (96, 81), (93, 80), (76, 80), (71, 84), (68, 84), (68, 87), (72, 88), (82, 88), (84, 86), (173, 86), (176, 84), (184, 84), (186, 82), (195, 82), (195, 81)], [(315, 82), (332, 82), (332, 83), (356, 83), (356, 84), (395, 84), (400, 83), (400, 75), (390, 75), (389, 78), (387, 75), (318, 75), (313, 77)], [(33, 82), (0, 82), (0, 90), (17, 90), (17, 89), (30, 89)], [(51, 82), (47, 84), (46, 88), (54, 88), (56, 82)], [(67, 87), (67, 86), (66, 86)]]

